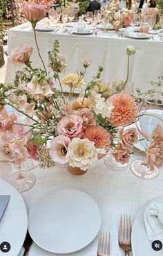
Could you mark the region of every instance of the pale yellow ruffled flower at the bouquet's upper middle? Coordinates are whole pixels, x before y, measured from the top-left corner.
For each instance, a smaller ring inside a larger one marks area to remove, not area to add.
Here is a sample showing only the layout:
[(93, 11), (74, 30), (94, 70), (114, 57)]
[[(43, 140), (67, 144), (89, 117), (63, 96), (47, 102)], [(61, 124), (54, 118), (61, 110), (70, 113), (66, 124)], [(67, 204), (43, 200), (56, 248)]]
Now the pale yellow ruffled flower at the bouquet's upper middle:
[(70, 73), (66, 75), (64, 78), (61, 79), (61, 83), (63, 85), (68, 85), (70, 87), (83, 87), (85, 85), (84, 79), (80, 79), (78, 74), (76, 73)]

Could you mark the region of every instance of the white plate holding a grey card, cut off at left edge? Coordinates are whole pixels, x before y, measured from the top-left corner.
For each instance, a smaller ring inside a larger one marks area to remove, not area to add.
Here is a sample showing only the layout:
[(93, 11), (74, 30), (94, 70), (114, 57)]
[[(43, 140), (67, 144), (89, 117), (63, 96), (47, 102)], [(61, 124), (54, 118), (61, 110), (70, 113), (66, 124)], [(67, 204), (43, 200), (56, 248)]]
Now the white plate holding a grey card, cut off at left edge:
[(10, 200), (0, 221), (0, 244), (7, 241), (11, 248), (0, 255), (17, 256), (23, 246), (28, 228), (26, 205), (19, 192), (8, 182), (0, 179), (0, 195), (10, 195)]

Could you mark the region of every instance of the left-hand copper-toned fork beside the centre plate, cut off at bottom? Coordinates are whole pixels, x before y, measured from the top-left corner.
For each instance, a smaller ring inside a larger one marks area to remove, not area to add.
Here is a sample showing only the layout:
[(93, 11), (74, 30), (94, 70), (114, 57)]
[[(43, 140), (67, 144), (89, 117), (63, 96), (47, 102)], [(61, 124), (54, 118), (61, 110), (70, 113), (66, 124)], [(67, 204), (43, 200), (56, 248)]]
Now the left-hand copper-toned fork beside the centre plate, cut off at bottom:
[(110, 232), (100, 231), (97, 256), (111, 256), (111, 235)]

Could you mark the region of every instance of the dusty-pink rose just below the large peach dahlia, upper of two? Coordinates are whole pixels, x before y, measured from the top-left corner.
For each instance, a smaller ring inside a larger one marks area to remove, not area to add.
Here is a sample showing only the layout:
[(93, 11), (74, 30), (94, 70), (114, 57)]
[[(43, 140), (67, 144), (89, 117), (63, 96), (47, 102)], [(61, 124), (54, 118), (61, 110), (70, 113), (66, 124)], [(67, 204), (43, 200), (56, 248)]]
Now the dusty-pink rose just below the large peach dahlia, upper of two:
[(133, 148), (133, 144), (138, 141), (138, 133), (135, 128), (130, 128), (128, 130), (122, 128), (119, 135), (122, 139), (122, 144), (124, 144), (126, 148)]

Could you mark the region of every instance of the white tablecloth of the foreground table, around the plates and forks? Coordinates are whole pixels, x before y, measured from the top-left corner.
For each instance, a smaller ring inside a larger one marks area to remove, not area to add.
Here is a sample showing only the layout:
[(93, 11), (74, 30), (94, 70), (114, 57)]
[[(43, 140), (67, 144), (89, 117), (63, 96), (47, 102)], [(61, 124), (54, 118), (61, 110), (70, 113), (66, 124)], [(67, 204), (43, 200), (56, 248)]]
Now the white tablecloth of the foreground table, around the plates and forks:
[[(140, 156), (133, 156), (132, 160), (135, 158)], [(130, 214), (134, 221), (137, 212), (147, 200), (163, 193), (163, 169), (154, 180), (137, 178), (129, 168), (124, 171), (111, 171), (104, 164), (104, 160), (97, 162), (83, 176), (70, 174), (63, 165), (56, 165), (48, 170), (37, 167), (31, 172), (36, 177), (36, 183), (30, 190), (22, 193), (28, 210), (40, 196), (57, 188), (79, 189), (95, 198), (102, 212), (102, 230), (111, 232), (111, 256), (124, 255), (118, 245), (120, 215)], [(98, 237), (83, 250), (69, 256), (97, 256), (97, 244)], [(33, 243), (28, 256), (56, 255), (45, 252)]]

